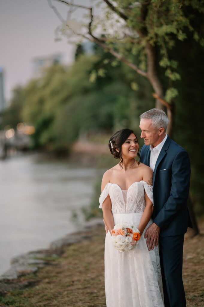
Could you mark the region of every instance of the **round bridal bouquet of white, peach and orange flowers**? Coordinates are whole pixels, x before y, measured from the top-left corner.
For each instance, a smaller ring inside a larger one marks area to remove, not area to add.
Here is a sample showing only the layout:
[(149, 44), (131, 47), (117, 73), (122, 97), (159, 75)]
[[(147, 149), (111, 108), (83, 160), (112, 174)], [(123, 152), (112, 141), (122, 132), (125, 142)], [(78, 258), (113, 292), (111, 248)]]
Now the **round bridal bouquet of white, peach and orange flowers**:
[(128, 223), (116, 224), (111, 234), (112, 243), (120, 252), (131, 251), (140, 239), (140, 231)]

